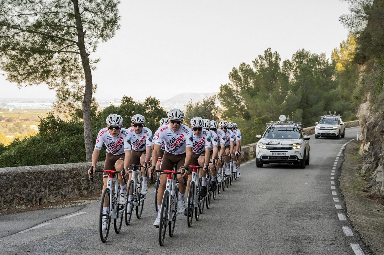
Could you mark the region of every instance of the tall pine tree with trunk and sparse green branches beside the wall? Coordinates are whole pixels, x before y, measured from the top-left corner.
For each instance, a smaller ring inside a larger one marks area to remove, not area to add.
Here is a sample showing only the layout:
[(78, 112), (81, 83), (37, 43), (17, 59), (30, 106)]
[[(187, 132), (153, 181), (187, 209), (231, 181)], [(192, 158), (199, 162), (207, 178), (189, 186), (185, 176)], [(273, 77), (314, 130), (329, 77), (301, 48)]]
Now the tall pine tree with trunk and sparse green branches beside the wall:
[(119, 28), (119, 0), (0, 0), (0, 67), (18, 86), (72, 89), (82, 100), (86, 159), (91, 161), (92, 70), (100, 41)]

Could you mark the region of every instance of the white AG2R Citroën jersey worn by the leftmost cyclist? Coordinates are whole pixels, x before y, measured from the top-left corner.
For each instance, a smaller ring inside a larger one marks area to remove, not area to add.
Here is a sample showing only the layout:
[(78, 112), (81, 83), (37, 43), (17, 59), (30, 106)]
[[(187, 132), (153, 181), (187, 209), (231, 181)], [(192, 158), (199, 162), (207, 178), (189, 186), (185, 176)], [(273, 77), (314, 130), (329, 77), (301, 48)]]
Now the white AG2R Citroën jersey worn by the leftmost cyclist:
[(113, 155), (121, 155), (124, 151), (131, 150), (131, 137), (126, 128), (121, 128), (116, 137), (109, 133), (108, 127), (102, 128), (96, 138), (95, 149), (101, 150), (103, 143), (107, 147), (107, 152)]

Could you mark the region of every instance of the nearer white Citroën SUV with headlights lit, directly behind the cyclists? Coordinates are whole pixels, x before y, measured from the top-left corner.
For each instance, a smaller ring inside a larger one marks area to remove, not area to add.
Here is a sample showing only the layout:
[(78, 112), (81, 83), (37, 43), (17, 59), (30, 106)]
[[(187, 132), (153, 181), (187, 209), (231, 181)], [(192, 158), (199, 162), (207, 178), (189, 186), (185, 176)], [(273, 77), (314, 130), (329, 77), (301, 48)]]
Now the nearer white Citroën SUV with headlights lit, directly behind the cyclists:
[(271, 122), (256, 147), (256, 167), (270, 163), (291, 163), (305, 168), (310, 164), (310, 136), (300, 122)]

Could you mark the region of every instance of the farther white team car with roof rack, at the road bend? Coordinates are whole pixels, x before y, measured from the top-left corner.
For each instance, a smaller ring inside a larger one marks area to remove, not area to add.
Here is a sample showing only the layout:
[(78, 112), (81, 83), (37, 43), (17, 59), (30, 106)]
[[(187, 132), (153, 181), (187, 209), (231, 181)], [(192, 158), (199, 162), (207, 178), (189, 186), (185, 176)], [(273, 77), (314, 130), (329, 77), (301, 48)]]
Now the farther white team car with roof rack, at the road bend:
[(314, 138), (319, 137), (335, 137), (336, 139), (344, 138), (345, 125), (341, 116), (334, 114), (323, 115), (319, 122), (315, 122)]

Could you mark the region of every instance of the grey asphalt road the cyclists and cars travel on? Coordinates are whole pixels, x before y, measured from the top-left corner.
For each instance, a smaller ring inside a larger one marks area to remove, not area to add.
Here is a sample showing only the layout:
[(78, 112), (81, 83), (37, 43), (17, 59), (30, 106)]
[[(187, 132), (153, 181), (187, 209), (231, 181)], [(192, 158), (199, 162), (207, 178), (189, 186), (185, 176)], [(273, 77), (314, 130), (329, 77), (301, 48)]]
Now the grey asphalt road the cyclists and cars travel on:
[(310, 140), (310, 165), (264, 165), (251, 160), (242, 176), (212, 200), (199, 221), (187, 226), (177, 217), (173, 237), (158, 243), (153, 227), (154, 189), (141, 219), (113, 225), (106, 243), (98, 232), (99, 201), (84, 206), (43, 209), (0, 216), (0, 254), (372, 254), (346, 217), (337, 177), (345, 138)]

